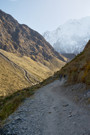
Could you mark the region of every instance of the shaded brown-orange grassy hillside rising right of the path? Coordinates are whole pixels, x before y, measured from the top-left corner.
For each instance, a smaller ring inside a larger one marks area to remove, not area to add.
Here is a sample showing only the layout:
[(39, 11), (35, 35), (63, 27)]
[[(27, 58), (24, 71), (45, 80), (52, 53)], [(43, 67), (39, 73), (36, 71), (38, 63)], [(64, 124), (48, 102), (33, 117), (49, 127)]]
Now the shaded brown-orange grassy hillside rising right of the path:
[(83, 82), (90, 85), (90, 40), (84, 51), (67, 63), (60, 74), (67, 76), (70, 83)]

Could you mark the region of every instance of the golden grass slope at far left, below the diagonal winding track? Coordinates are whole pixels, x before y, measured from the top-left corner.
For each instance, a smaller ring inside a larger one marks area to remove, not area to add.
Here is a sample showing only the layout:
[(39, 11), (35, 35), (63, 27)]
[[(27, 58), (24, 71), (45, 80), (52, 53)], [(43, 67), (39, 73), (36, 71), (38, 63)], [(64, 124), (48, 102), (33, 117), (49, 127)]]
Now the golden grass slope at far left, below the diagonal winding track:
[(0, 96), (29, 86), (22, 72), (0, 56)]

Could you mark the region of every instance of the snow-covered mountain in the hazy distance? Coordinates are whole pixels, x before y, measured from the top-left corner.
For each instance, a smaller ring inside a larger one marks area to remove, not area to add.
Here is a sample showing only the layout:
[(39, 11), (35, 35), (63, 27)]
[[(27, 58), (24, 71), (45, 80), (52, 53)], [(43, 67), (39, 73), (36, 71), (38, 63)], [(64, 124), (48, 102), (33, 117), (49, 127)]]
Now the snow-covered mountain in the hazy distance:
[(78, 54), (90, 39), (90, 17), (70, 20), (43, 36), (58, 52)]

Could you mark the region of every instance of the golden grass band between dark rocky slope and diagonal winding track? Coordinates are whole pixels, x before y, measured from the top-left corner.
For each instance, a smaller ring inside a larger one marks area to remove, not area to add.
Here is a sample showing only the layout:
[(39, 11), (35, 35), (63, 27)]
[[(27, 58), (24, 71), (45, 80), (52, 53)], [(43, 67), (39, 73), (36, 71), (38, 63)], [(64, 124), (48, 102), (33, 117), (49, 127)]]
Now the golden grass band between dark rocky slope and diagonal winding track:
[(36, 62), (27, 56), (19, 57), (19, 55), (15, 55), (13, 53), (6, 52), (2, 49), (0, 49), (0, 52), (2, 52), (5, 56), (7, 56), (11, 61), (15, 62), (19, 66), (22, 66), (29, 72), (31, 72), (33, 74), (37, 74), (39, 76), (39, 78), (42, 76), (43, 79), (47, 78), (47, 76), (45, 77), (44, 73), (45, 74), (46, 74), (46, 72), (53, 73), (53, 72), (59, 70), (65, 64), (65, 62), (63, 62), (57, 58), (53, 58), (52, 60), (49, 60), (49, 61), (43, 60), (46, 65), (45, 66), (44, 64), (40, 63), (39, 61)]

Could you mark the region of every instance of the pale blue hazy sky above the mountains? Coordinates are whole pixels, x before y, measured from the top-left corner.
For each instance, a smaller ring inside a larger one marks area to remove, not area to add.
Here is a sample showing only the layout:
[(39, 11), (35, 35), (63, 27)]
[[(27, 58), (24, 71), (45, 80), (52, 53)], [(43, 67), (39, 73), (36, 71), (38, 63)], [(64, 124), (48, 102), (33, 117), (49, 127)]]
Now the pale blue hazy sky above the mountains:
[(0, 9), (43, 33), (69, 19), (90, 16), (90, 0), (0, 0)]

